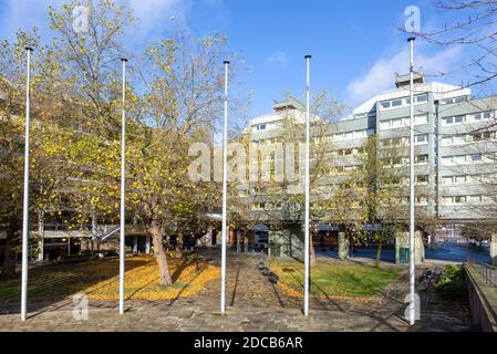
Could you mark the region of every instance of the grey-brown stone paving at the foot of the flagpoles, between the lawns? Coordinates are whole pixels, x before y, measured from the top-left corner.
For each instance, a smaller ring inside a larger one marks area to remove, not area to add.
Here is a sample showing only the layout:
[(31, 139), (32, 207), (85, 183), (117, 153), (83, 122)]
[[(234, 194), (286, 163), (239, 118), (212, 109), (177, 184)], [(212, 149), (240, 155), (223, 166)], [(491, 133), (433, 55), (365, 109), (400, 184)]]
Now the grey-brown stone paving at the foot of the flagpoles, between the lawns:
[[(203, 254), (218, 263), (217, 253)], [(410, 327), (403, 319), (407, 279), (401, 277), (372, 302), (311, 299), (309, 317), (302, 301), (287, 295), (257, 269), (261, 256), (229, 254), (227, 313), (219, 311), (220, 281), (191, 298), (170, 301), (126, 301), (120, 315), (116, 301), (91, 301), (89, 319), (73, 317), (70, 300), (29, 303), (29, 319), (20, 321), (19, 304), (0, 304), (0, 331), (187, 331), (187, 332), (405, 332), (468, 331), (463, 312), (423, 305), (422, 320)], [(422, 270), (421, 270), (422, 271)], [(423, 303), (423, 299), (422, 299)]]

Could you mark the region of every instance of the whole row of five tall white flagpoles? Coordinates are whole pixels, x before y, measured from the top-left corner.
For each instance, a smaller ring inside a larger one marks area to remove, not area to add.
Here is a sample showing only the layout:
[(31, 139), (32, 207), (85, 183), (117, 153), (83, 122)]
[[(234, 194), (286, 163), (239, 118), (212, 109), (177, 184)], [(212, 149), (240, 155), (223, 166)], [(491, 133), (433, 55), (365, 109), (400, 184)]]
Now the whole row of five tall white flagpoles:
[[(414, 38), (408, 39), (411, 45), (411, 150), (410, 150), (410, 323), (415, 323), (415, 263), (414, 263)], [(22, 216), (22, 275), (21, 275), (21, 320), (27, 319), (28, 304), (28, 244), (29, 244), (29, 149), (30, 149), (30, 72), (32, 48), (27, 46), (27, 93), (25, 93), (25, 146), (24, 146), (24, 195), (23, 195), (23, 216)], [(304, 294), (303, 313), (309, 315), (310, 299), (310, 61), (311, 55), (306, 55), (307, 75), (306, 75), (306, 206), (304, 206)], [(121, 225), (120, 225), (120, 314), (124, 314), (124, 268), (125, 268), (125, 153), (126, 153), (126, 62), (122, 58), (122, 140), (121, 140)], [(226, 314), (226, 251), (228, 238), (227, 225), (227, 194), (228, 194), (228, 81), (229, 81), (229, 61), (225, 61), (225, 116), (224, 116), (224, 140), (222, 140), (222, 242), (221, 242), (221, 294), (220, 310)]]

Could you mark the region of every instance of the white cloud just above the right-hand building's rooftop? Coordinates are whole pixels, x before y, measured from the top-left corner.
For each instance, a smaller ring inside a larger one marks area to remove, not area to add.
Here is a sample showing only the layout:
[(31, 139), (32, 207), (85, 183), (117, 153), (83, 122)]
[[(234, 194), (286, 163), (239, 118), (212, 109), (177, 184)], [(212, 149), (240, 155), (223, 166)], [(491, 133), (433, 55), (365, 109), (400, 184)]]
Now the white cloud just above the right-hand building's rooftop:
[[(416, 53), (415, 66), (423, 66), (425, 73), (438, 74), (447, 72), (460, 61), (462, 49), (448, 48), (434, 55)], [(410, 50), (405, 49), (391, 58), (377, 60), (373, 67), (363, 76), (354, 79), (346, 87), (350, 104), (360, 104), (372, 98), (380, 92), (392, 88), (395, 73), (408, 72)]]

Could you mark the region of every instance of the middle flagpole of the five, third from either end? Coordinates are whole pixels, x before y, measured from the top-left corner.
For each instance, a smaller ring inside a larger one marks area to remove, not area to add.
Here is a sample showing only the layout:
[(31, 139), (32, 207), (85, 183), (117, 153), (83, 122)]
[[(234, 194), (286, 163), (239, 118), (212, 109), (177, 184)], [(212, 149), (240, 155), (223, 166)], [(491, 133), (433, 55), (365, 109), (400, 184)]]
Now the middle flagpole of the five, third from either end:
[(225, 61), (225, 124), (222, 133), (222, 243), (221, 243), (221, 314), (226, 313), (226, 238), (227, 238), (227, 194), (228, 194), (228, 69)]

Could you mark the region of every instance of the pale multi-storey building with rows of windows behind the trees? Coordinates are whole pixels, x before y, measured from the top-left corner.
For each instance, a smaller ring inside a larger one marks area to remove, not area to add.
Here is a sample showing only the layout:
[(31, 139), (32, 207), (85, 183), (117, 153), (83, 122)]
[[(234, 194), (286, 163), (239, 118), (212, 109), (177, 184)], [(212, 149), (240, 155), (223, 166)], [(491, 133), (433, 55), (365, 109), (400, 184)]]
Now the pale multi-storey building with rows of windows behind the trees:
[[(469, 88), (426, 82), (423, 72), (415, 74), (416, 208), (447, 229), (493, 219), (496, 200), (489, 181), (497, 180), (496, 110), (497, 97), (476, 98)], [(290, 98), (275, 104), (271, 114), (252, 119), (246, 133), (256, 143), (277, 140), (281, 122), (289, 114), (304, 122), (304, 107)], [(346, 118), (329, 124), (324, 140), (330, 145), (335, 169), (346, 171), (358, 167), (356, 156), (373, 135), (383, 146), (398, 148), (395, 165), (403, 170), (403, 183), (408, 185), (408, 75), (397, 74), (394, 88), (372, 97)], [(319, 199), (319, 192), (312, 191), (314, 199)]]

